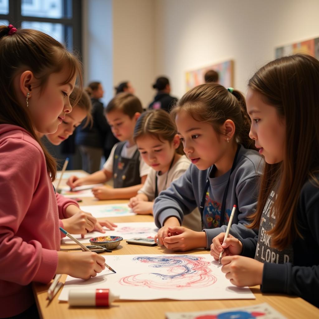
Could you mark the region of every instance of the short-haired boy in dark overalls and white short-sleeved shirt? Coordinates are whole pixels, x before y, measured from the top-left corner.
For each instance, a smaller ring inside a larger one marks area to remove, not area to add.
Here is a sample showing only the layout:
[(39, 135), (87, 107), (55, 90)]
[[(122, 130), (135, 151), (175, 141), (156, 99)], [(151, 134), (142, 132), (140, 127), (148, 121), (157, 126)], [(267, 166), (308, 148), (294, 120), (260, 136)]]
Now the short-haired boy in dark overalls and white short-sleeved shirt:
[(101, 170), (83, 178), (71, 176), (67, 184), (74, 188), (104, 183), (113, 178), (113, 189), (106, 186), (93, 188), (94, 196), (98, 199), (129, 199), (143, 186), (150, 169), (140, 158), (133, 138), (136, 121), (143, 112), (142, 104), (131, 93), (119, 93), (105, 111), (114, 136), (121, 142), (114, 145)]

